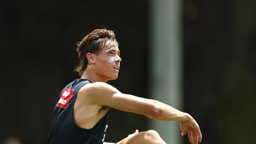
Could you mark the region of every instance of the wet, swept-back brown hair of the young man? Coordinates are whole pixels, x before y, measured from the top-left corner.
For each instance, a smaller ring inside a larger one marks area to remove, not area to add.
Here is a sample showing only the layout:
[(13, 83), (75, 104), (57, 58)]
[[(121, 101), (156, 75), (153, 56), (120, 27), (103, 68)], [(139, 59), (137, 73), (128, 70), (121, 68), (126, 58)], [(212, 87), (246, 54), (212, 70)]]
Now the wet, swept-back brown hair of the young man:
[[(106, 44), (108, 40), (112, 42)], [(111, 30), (97, 29), (86, 35), (83, 40), (77, 44), (76, 52), (78, 52), (80, 63), (76, 66), (75, 71), (79, 73), (79, 76), (82, 76), (87, 65), (90, 65), (86, 57), (87, 53), (98, 55), (104, 47), (114, 46), (115, 44), (118, 45), (115, 34)]]

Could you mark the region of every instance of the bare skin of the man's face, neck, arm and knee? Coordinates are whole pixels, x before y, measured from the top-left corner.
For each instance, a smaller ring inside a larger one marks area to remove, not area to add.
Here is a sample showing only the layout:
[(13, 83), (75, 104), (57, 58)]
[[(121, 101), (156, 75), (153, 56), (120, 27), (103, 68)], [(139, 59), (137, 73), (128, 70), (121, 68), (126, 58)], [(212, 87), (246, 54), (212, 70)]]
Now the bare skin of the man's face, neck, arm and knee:
[[(120, 51), (117, 46), (103, 48), (98, 55), (88, 53), (88, 65), (83, 79), (92, 83), (84, 85), (78, 92), (74, 105), (74, 120), (82, 128), (90, 129), (108, 112), (108, 107), (121, 111), (143, 114), (148, 118), (163, 121), (178, 121), (182, 135), (188, 133), (191, 143), (201, 142), (202, 135), (197, 122), (187, 113), (156, 100), (123, 94), (106, 81), (117, 79), (120, 68)], [(113, 144), (104, 142), (104, 144)], [(118, 144), (165, 144), (156, 131), (135, 131)]]

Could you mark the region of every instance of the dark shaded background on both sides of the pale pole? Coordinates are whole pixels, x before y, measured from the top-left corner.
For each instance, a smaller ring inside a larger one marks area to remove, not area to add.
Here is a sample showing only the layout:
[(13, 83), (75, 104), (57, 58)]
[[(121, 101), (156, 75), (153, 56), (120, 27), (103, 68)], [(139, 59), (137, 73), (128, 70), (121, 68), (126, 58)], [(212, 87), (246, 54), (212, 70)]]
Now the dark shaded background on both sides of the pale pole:
[[(1, 1), (0, 140), (45, 144), (59, 91), (79, 78), (76, 43), (104, 26), (120, 44), (121, 92), (148, 98), (150, 5), (130, 1)], [(256, 1), (183, 0), (184, 111), (201, 126), (202, 144), (254, 144)], [(159, 48), (161, 50), (161, 48)], [(111, 109), (107, 140), (147, 118)], [(188, 138), (184, 138), (188, 144)]]

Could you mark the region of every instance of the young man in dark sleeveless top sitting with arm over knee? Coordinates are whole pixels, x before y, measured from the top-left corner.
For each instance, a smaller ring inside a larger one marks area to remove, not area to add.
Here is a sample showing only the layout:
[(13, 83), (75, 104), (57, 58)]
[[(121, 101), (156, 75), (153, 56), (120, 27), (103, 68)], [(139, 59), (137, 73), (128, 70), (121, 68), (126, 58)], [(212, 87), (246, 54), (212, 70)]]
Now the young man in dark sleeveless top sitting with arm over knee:
[[(54, 107), (48, 144), (113, 144), (104, 142), (108, 108), (163, 121), (179, 121), (182, 135), (191, 143), (201, 142), (197, 122), (187, 113), (156, 100), (123, 94), (106, 82), (117, 79), (120, 51), (113, 31), (94, 30), (76, 48), (81, 78), (61, 90)], [(154, 130), (135, 133), (117, 144), (166, 144)]]

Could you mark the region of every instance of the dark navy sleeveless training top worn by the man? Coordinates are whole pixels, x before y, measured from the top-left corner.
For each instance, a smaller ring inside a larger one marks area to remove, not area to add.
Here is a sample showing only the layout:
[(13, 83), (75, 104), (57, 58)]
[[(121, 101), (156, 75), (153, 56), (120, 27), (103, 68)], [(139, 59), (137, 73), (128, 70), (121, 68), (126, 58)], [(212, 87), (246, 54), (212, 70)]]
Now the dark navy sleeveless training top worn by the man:
[(83, 129), (74, 122), (76, 96), (87, 83), (91, 82), (87, 79), (76, 79), (61, 90), (55, 102), (48, 144), (103, 144), (109, 112), (91, 129)]

